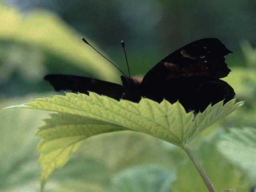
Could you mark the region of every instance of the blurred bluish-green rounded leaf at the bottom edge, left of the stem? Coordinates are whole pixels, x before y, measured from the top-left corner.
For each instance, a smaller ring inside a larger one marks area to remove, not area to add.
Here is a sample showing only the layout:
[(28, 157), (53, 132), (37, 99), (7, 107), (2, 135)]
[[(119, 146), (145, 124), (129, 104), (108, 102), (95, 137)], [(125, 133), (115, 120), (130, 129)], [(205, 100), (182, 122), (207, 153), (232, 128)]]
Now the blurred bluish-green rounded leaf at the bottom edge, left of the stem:
[(171, 192), (174, 173), (158, 166), (138, 166), (116, 174), (111, 192)]

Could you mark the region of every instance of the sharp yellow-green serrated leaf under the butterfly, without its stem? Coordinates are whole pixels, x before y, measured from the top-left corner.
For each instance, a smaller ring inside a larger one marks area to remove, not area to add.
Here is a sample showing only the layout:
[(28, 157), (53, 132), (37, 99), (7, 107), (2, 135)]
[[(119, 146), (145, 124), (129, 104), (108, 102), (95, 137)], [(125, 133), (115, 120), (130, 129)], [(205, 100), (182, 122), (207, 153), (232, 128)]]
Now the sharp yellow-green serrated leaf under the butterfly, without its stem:
[(193, 112), (186, 113), (179, 102), (170, 104), (163, 100), (159, 104), (142, 98), (139, 103), (134, 103), (93, 92), (90, 96), (67, 93), (66, 96), (36, 99), (21, 107), (59, 113), (46, 120), (46, 125), (38, 132), (43, 139), (38, 145), (43, 186), (52, 171), (66, 164), (70, 155), (90, 136), (134, 130), (183, 147), (185, 142), (243, 104), (234, 102), (208, 106), (196, 117)]

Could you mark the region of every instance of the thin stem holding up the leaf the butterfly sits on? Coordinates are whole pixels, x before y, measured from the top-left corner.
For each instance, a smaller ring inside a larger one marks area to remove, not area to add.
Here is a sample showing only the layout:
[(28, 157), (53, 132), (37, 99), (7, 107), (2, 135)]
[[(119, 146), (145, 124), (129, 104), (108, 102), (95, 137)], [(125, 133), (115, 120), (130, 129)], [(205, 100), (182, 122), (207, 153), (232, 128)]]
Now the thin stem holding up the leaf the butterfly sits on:
[(183, 146), (184, 151), (186, 154), (188, 154), (190, 160), (193, 162), (194, 166), (196, 166), (196, 169), (198, 170), (199, 174), (201, 175), (202, 179), (204, 180), (204, 183), (206, 184), (206, 187), (208, 188), (209, 192), (215, 192), (215, 189), (210, 182), (210, 179), (206, 175), (206, 172), (204, 171), (203, 167), (199, 163), (198, 159), (196, 156), (193, 154), (193, 152), (188, 148), (187, 144), (184, 144)]

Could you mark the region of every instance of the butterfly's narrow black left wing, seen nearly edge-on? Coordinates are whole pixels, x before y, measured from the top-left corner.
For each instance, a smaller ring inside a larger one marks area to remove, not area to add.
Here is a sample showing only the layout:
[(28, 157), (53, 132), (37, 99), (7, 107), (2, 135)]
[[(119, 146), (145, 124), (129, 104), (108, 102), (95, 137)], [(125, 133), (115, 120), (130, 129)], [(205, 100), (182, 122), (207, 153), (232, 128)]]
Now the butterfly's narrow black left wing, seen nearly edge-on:
[(56, 91), (71, 90), (84, 94), (92, 91), (116, 100), (119, 100), (124, 92), (124, 88), (120, 84), (83, 76), (49, 74), (44, 77), (44, 80), (49, 81)]

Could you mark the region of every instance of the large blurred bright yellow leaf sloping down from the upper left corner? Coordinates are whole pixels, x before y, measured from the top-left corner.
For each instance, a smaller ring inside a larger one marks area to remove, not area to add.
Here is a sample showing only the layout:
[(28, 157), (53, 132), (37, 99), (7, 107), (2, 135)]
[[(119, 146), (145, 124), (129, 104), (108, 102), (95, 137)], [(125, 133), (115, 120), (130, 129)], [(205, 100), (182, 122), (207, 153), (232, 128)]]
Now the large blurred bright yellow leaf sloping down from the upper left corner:
[[(114, 66), (86, 46), (80, 34), (51, 12), (34, 10), (24, 16), (0, 3), (0, 18), (0, 41), (37, 46), (103, 80), (119, 78)], [(61, 64), (55, 65), (59, 68)]]

